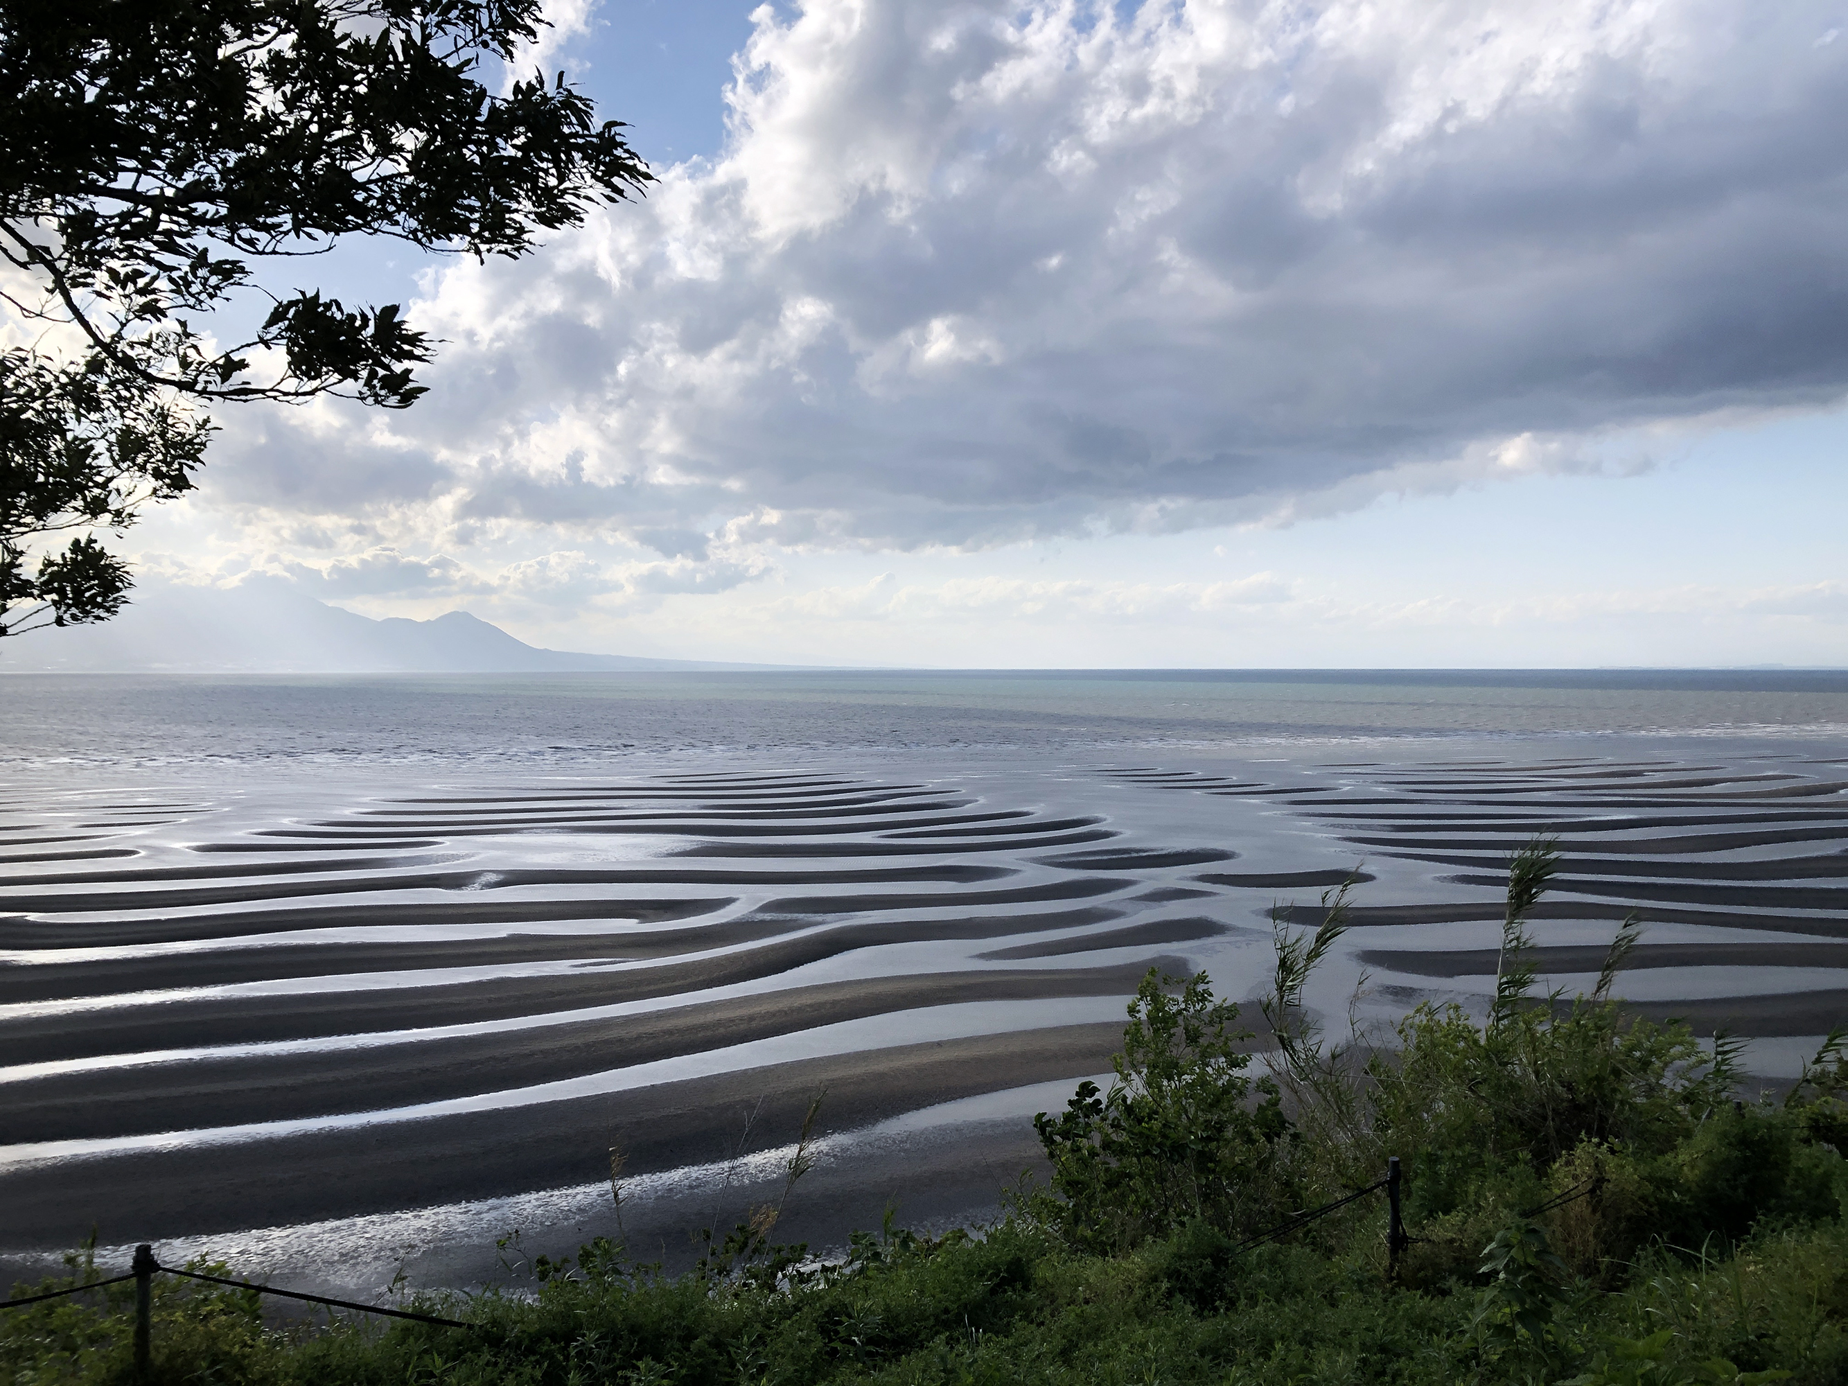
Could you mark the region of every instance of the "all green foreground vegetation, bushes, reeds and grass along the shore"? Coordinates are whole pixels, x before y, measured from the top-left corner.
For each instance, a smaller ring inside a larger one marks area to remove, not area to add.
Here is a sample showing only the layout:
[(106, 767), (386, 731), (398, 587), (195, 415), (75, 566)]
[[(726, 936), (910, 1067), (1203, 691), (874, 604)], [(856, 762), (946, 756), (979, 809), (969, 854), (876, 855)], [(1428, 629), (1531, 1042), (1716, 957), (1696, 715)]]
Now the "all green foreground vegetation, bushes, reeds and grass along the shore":
[[(1735, 1046), (1611, 1002), (1634, 926), (1593, 994), (1534, 996), (1523, 920), (1550, 867), (1515, 857), (1480, 1020), (1425, 1005), (1392, 1044), (1327, 1042), (1301, 998), (1345, 893), (1312, 935), (1279, 928), (1258, 1061), (1205, 976), (1151, 976), (1118, 1081), (1039, 1118), (1050, 1188), (978, 1236), (887, 1227), (822, 1264), (772, 1246), (763, 1209), (687, 1275), (599, 1240), (540, 1258), (536, 1295), (423, 1301), (466, 1331), (272, 1331), (255, 1294), (157, 1283), (153, 1379), (1848, 1382), (1848, 1031), (1781, 1100), (1737, 1094)], [(1379, 1192), (1292, 1225), (1388, 1155), (1401, 1255)], [(128, 1380), (129, 1297), (9, 1310), (6, 1380)]]

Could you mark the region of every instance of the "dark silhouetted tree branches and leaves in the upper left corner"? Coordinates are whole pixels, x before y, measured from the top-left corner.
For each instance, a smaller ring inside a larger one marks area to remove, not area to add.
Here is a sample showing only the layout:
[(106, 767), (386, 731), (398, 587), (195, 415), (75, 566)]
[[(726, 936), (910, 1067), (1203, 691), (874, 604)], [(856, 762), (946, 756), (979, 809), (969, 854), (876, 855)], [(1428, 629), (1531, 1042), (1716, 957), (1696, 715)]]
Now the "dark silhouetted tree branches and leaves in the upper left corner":
[(0, 636), (120, 610), (98, 532), (192, 488), (218, 403), (423, 394), (399, 305), (279, 296), (264, 264), (519, 257), (645, 190), (564, 74), (484, 85), (541, 26), (540, 0), (0, 0)]

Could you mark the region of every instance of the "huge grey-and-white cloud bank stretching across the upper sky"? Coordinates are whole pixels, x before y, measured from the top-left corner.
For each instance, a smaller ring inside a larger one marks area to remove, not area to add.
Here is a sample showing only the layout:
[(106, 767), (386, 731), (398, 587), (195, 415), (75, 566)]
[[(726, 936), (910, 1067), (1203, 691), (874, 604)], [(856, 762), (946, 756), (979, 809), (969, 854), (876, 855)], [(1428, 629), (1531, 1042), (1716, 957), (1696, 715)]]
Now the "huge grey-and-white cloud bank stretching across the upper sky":
[(449, 268), (423, 403), (268, 414), (211, 484), (368, 543), (652, 549), (554, 590), (660, 593), (776, 545), (1290, 523), (1610, 468), (1615, 429), (1848, 388), (1833, 13), (765, 6), (721, 159)]

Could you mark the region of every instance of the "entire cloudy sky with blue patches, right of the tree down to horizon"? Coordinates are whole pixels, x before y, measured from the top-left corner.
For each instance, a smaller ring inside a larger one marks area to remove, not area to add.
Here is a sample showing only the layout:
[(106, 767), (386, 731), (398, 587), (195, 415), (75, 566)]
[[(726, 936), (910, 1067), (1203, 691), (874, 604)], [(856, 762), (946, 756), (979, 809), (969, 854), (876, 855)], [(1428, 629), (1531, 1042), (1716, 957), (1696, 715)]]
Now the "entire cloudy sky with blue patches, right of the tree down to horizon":
[(342, 253), (150, 573), (556, 649), (1848, 663), (1848, 0), (556, 0), (660, 185)]

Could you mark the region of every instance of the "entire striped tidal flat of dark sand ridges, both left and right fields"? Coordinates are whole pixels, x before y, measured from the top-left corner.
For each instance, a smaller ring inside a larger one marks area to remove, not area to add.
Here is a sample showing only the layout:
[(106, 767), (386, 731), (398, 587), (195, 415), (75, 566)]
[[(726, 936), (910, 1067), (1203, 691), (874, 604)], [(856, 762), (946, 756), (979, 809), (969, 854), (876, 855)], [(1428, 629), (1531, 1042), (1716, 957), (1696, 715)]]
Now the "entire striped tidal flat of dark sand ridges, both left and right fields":
[(1148, 967), (1249, 996), (1270, 907), (1312, 922), (1349, 876), (1338, 991), (1366, 967), (1373, 1018), (1467, 1002), (1493, 987), (1506, 859), (1538, 833), (1563, 854), (1534, 926), (1550, 979), (1595, 972), (1635, 909), (1639, 1009), (1763, 1044), (1848, 1018), (1841, 763), (1429, 756), (1015, 767), (1000, 789), (495, 782), (312, 811), (15, 796), (6, 1242), (584, 1186), (612, 1144), (647, 1175), (785, 1144), (821, 1087), (830, 1131), (1068, 1088), (1107, 1068)]

